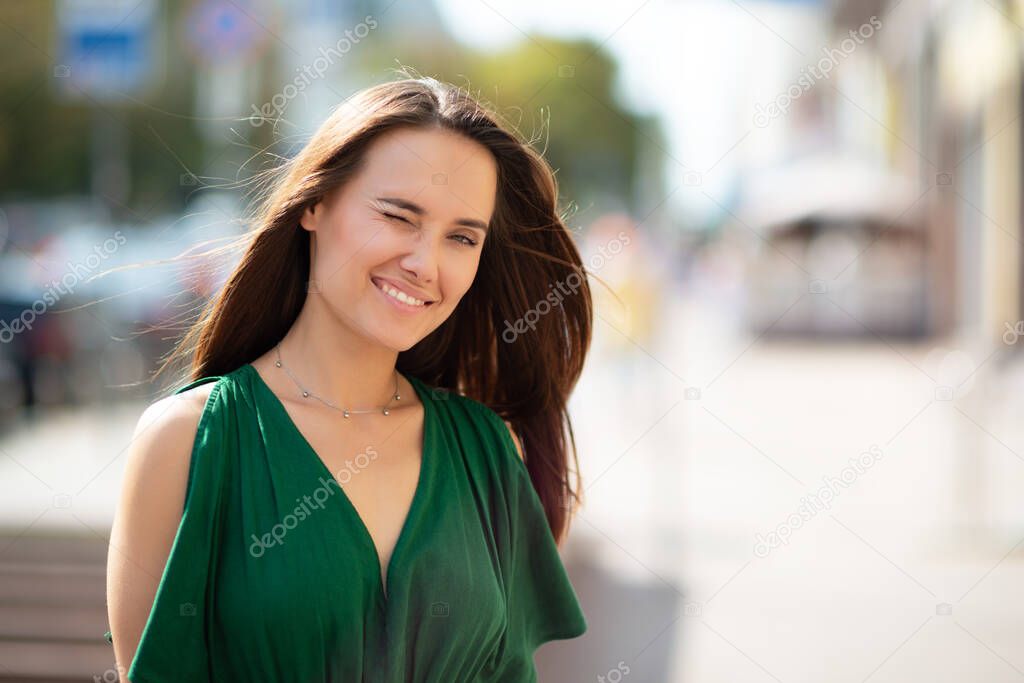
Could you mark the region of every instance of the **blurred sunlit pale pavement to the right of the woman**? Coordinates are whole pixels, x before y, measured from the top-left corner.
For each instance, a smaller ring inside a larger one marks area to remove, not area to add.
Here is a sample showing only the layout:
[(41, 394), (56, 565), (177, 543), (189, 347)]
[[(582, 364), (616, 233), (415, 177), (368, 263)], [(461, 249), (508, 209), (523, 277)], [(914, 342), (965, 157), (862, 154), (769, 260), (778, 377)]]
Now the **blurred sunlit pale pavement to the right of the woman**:
[[(1020, 360), (755, 340), (692, 297), (662, 319), (675, 344), (632, 353), (629, 386), (602, 364), (579, 392), (589, 505), (573, 537), (637, 595), (659, 593), (660, 613), (585, 596), (609, 635), (566, 649), (643, 681), (1019, 680)], [(954, 398), (936, 399), (945, 385)], [(881, 459), (830, 509), (757, 554), (758, 533), (872, 444)]]

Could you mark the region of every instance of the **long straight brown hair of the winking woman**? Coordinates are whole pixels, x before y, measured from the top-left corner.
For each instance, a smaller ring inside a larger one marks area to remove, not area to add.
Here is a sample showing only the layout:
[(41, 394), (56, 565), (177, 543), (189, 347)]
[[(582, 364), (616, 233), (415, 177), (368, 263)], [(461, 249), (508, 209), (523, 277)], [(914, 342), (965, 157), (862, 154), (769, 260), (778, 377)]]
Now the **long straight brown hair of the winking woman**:
[[(399, 127), (440, 127), (482, 144), (497, 161), (498, 194), (473, 285), (441, 326), (398, 354), (398, 370), (475, 398), (512, 424), (560, 542), (582, 492), (566, 403), (590, 346), (591, 292), (559, 215), (550, 166), (462, 88), (404, 78), (339, 105), (295, 157), (273, 169), (239, 264), (157, 375), (182, 358), (185, 365), (190, 358), (183, 379), (226, 374), (285, 336), (309, 280), (309, 232), (299, 226), (304, 209), (351, 178), (377, 136)], [(563, 296), (553, 297), (556, 289)], [(510, 340), (508, 330), (521, 334)]]

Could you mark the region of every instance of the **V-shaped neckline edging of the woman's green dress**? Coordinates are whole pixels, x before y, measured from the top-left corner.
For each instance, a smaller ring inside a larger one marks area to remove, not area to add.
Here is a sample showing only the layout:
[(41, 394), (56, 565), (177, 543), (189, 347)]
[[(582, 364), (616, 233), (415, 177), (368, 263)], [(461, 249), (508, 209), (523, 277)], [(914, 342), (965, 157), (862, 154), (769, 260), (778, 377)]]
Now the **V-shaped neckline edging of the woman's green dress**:
[(430, 404), (430, 399), (427, 395), (426, 389), (420, 385), (420, 380), (418, 378), (413, 377), (412, 375), (399, 373), (406, 378), (410, 385), (412, 385), (413, 390), (416, 391), (416, 394), (420, 397), (420, 402), (423, 403), (423, 441), (420, 445), (420, 473), (417, 476), (416, 490), (413, 493), (413, 500), (409, 505), (408, 512), (406, 512), (406, 519), (401, 523), (401, 528), (398, 531), (398, 538), (395, 540), (394, 546), (391, 548), (391, 555), (388, 557), (387, 568), (384, 568), (381, 566), (380, 551), (377, 548), (377, 543), (374, 541), (373, 535), (370, 532), (370, 528), (367, 526), (366, 521), (364, 521), (359, 511), (355, 508), (355, 505), (348, 498), (348, 495), (345, 493), (341, 483), (334, 476), (334, 473), (327, 466), (327, 463), (324, 462), (324, 459), (321, 458), (318, 453), (316, 453), (316, 449), (312, 446), (309, 439), (306, 438), (305, 434), (302, 433), (302, 430), (295, 424), (292, 416), (288, 413), (288, 409), (285, 408), (285, 404), (278, 397), (278, 394), (275, 394), (263, 380), (259, 371), (256, 370), (256, 366), (251, 362), (247, 362), (246, 368), (248, 368), (249, 372), (252, 373), (256, 383), (268, 394), (270, 402), (274, 405), (275, 410), (281, 413), (281, 416), (289, 425), (292, 433), (298, 438), (300, 444), (306, 450), (307, 455), (311, 456), (313, 467), (316, 467), (322, 474), (326, 474), (331, 481), (334, 481), (335, 484), (338, 485), (338, 493), (341, 495), (345, 507), (355, 519), (356, 526), (358, 526), (364, 540), (370, 546), (370, 550), (374, 556), (374, 561), (377, 565), (377, 587), (380, 589), (381, 599), (386, 603), (388, 587), (392, 585), (391, 574), (392, 569), (394, 568), (395, 559), (398, 557), (398, 551), (401, 550), (404, 545), (406, 537), (408, 536), (409, 527), (412, 523), (414, 514), (417, 513), (420, 507), (423, 506), (421, 499), (423, 499), (426, 495), (427, 475), (429, 474), (428, 465), (432, 464), (429, 452), (430, 445), (433, 442), (432, 439), (434, 434), (432, 413), (433, 407)]

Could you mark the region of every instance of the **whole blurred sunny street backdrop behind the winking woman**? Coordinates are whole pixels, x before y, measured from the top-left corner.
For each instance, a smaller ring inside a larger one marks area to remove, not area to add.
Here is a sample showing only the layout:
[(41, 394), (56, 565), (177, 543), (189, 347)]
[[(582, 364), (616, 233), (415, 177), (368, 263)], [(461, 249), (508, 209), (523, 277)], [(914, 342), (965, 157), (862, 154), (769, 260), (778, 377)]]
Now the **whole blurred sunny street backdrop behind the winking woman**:
[(537, 139), (601, 281), (564, 550), (589, 630), (542, 681), (1024, 680), (1022, 25), (1020, 0), (4, 0), (0, 680), (115, 680), (123, 454), (168, 322), (223, 282), (90, 279), (245, 231), (234, 183), (401, 66)]

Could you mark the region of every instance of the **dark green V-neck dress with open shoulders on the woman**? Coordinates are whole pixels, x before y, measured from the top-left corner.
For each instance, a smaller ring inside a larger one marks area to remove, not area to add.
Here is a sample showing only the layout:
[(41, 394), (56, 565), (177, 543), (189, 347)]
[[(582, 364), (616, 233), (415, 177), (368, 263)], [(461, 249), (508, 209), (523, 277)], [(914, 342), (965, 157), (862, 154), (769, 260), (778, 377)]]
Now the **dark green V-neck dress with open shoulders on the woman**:
[(423, 460), (386, 593), (338, 478), (252, 365), (175, 391), (216, 382), (132, 683), (525, 683), (540, 644), (586, 631), (505, 423), (407, 379)]

